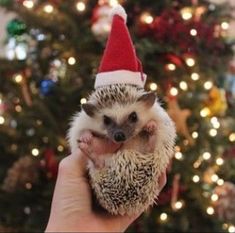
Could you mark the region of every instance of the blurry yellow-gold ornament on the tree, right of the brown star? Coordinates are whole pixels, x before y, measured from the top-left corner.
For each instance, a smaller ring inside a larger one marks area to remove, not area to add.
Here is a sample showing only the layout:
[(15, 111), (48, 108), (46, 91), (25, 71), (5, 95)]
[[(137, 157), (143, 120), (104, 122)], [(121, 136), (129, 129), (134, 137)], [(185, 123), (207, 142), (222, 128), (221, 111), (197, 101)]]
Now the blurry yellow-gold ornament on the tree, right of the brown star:
[(227, 110), (227, 101), (224, 89), (213, 86), (206, 100), (209, 116), (223, 116)]

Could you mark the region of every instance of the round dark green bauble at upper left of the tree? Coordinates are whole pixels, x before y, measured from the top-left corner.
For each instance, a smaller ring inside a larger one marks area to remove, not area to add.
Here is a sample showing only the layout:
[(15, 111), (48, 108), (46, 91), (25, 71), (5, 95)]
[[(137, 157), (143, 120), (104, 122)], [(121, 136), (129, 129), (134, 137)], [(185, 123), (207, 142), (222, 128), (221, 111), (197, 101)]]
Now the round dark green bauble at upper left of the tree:
[(13, 19), (7, 24), (7, 33), (9, 36), (20, 36), (26, 31), (26, 24), (19, 19)]

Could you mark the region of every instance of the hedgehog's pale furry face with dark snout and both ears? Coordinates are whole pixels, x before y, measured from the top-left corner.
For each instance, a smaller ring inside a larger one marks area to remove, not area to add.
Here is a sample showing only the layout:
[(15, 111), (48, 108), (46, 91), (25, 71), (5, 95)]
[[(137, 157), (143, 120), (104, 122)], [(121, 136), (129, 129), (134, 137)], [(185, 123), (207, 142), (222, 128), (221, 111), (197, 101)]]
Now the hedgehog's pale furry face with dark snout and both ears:
[(134, 103), (114, 103), (111, 108), (98, 110), (94, 104), (82, 105), (87, 115), (102, 124), (106, 135), (116, 143), (123, 143), (137, 135), (144, 123), (144, 115), (150, 109), (156, 96), (154, 93), (143, 94)]

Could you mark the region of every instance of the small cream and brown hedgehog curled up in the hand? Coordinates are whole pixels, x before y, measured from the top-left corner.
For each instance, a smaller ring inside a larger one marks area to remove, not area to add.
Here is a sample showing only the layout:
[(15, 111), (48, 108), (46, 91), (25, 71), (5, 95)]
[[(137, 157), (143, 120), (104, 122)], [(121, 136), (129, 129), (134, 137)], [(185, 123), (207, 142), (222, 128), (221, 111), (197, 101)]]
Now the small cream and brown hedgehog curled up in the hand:
[(72, 153), (84, 132), (119, 143), (112, 154), (90, 157), (89, 180), (109, 213), (133, 215), (154, 204), (158, 178), (174, 150), (175, 126), (153, 92), (130, 84), (97, 88), (72, 120)]

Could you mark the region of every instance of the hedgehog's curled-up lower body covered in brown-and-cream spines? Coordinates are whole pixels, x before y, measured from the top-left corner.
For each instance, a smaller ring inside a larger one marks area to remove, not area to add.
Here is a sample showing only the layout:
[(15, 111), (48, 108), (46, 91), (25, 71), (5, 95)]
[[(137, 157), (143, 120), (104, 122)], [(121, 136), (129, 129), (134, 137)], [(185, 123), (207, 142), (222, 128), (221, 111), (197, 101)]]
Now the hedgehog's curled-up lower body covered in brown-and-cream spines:
[(91, 186), (102, 207), (112, 214), (137, 214), (154, 203), (158, 177), (166, 167), (154, 153), (118, 151), (104, 168), (89, 168)]

